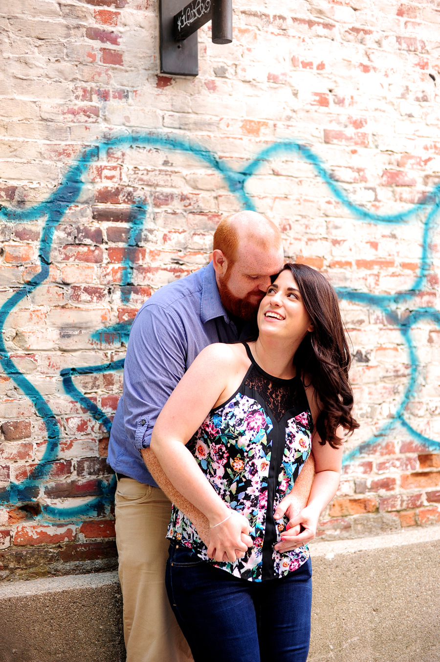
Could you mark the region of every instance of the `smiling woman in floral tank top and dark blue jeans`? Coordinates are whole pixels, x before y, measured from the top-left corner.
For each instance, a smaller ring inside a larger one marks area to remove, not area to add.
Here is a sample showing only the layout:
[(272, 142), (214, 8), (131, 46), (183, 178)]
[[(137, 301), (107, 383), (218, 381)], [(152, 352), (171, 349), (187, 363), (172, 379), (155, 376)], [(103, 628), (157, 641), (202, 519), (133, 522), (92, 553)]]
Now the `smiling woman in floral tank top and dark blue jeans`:
[[(257, 322), (255, 342), (200, 352), (152, 436), (163, 470), (210, 524), (206, 548), (173, 506), (167, 591), (195, 662), (306, 660), (306, 542), (339, 485), (343, 432), (358, 426), (337, 296), (324, 276), (285, 265)], [(296, 515), (290, 491), (311, 448), (316, 477)]]

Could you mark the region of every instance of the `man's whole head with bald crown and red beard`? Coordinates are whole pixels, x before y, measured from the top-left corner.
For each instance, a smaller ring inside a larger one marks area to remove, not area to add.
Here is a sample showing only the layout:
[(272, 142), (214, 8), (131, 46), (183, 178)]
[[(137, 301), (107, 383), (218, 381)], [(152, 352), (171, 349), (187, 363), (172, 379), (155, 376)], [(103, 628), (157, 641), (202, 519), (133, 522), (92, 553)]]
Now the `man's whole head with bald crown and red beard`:
[(275, 224), (254, 211), (224, 218), (214, 234), (212, 263), (226, 310), (251, 320), (283, 267), (283, 243)]

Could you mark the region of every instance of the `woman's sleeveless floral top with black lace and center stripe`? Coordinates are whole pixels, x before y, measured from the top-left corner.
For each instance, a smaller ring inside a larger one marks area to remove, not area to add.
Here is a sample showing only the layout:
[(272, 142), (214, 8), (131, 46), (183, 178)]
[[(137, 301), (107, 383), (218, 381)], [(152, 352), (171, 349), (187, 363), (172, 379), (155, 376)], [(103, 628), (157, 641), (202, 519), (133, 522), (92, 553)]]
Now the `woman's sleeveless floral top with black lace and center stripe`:
[(273, 518), (308, 458), (312, 415), (300, 377), (278, 379), (251, 365), (227, 402), (212, 409), (187, 444), (217, 494), (249, 520), (253, 546), (234, 563), (209, 559), (191, 520), (173, 505), (167, 538), (211, 565), (249, 581), (284, 577), (309, 557), (308, 545), (283, 553), (288, 518)]

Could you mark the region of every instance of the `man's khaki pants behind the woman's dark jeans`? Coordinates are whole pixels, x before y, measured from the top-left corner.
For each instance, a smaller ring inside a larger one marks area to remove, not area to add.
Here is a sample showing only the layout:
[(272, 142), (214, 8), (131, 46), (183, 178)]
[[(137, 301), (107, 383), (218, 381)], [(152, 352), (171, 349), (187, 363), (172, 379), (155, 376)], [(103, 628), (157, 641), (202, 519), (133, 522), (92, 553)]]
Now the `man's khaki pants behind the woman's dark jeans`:
[(165, 590), (171, 502), (159, 488), (131, 478), (118, 481), (115, 502), (127, 662), (189, 662)]

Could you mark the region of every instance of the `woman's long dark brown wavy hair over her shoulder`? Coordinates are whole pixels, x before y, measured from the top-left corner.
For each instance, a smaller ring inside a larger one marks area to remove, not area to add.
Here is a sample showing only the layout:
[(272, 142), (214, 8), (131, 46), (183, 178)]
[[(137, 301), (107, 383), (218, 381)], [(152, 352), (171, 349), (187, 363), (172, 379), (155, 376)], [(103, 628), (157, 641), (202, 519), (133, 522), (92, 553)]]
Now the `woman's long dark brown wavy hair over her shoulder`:
[(343, 443), (336, 436), (337, 426), (342, 426), (347, 434), (359, 428), (359, 423), (351, 416), (353, 391), (348, 381), (351, 356), (339, 301), (326, 277), (316, 269), (306, 264), (287, 263), (282, 271), (287, 270), (292, 273), (313, 322), (313, 331), (306, 335), (296, 350), (294, 363), (304, 381), (314, 388), (322, 407), (314, 421), (314, 429), (321, 438), (320, 444), (324, 446), (328, 442), (332, 448), (337, 448)]

